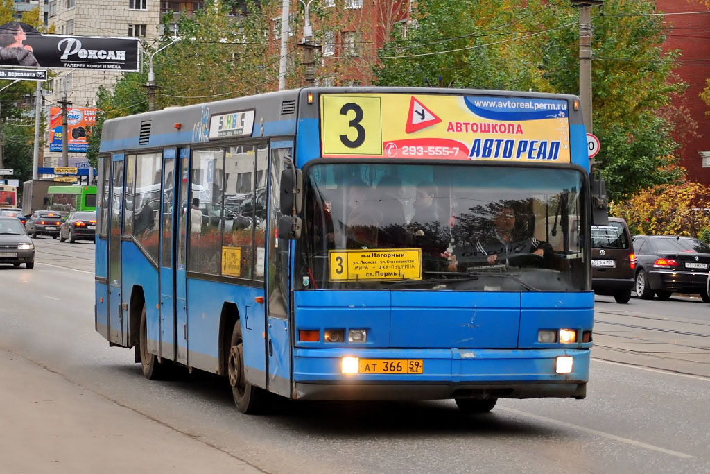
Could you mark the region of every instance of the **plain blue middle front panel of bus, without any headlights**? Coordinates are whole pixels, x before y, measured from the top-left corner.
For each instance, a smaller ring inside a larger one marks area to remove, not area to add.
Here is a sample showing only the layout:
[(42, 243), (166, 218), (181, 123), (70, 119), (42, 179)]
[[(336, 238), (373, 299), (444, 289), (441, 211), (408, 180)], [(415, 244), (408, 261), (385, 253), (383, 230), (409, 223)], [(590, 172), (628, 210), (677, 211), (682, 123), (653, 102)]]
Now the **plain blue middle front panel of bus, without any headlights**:
[(393, 348), (515, 348), (520, 293), (392, 291)]

